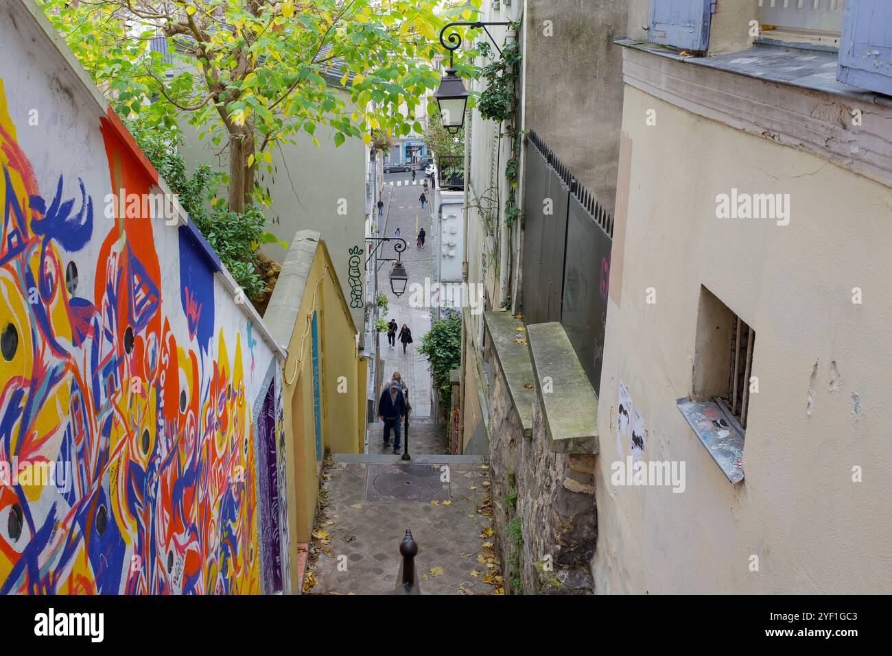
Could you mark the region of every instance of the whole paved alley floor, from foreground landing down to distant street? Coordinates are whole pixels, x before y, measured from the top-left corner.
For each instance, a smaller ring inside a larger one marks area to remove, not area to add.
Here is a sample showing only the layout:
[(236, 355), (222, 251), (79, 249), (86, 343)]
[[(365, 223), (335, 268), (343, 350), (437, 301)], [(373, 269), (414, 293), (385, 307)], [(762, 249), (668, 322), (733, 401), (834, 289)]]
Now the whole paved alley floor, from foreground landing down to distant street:
[[(430, 369), (417, 350), (430, 331), (431, 311), (412, 307), (412, 285), (424, 287), (425, 278), (433, 278), (430, 206), (425, 202), (421, 208), (422, 183), (418, 176), (417, 184), (384, 185), (383, 236), (393, 237), (399, 228), (408, 243), (401, 254), (409, 274), (406, 293), (399, 299), (393, 295), (387, 261), (378, 272), (378, 288), (388, 299), (384, 318), (409, 325), (414, 340), (405, 353), (399, 342), (390, 348), (385, 335), (382, 340), (384, 381), (400, 372), (409, 388), (411, 461), (401, 461), (384, 446), (382, 422), (368, 425), (365, 454), (326, 458), (305, 594), (391, 594), (406, 529), (419, 549), (415, 567), (421, 594), (504, 594), (492, 540), (489, 466), (481, 457), (448, 455), (444, 430), (434, 423)], [(425, 249), (416, 247), (421, 227), (428, 235)], [(393, 243), (384, 242), (379, 258), (396, 257)], [(380, 393), (376, 390), (376, 398)]]

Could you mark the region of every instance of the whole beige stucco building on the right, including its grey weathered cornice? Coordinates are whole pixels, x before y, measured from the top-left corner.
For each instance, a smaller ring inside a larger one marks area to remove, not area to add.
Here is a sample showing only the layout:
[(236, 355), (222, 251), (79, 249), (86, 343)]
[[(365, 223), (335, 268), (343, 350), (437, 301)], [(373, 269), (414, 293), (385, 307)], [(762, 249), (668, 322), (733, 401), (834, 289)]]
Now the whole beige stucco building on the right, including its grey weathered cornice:
[[(708, 57), (649, 44), (648, 4), (621, 43), (596, 589), (888, 593), (892, 102), (826, 49), (752, 47), (756, 2), (719, 4)], [(677, 399), (732, 380), (742, 456), (721, 466)], [(683, 491), (622, 484), (630, 455), (683, 463)]]

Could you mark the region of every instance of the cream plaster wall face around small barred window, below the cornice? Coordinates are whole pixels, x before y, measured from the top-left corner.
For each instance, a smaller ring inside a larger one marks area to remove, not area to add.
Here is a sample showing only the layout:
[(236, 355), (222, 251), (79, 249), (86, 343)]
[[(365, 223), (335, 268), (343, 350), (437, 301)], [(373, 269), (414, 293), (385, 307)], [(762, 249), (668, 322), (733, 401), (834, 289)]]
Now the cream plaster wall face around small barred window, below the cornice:
[[(651, 108), (656, 127), (645, 123)], [(614, 243), (615, 266), (623, 264), (611, 283), (622, 289), (611, 289), (599, 404), (597, 590), (892, 591), (892, 191), (631, 86), (623, 130), (631, 182), (621, 173), (618, 196), (628, 186), (629, 200), (624, 242)], [(789, 193), (789, 225), (716, 218), (716, 194), (732, 187)], [(749, 404), (746, 479), (736, 486), (675, 406), (691, 392), (701, 284), (756, 331), (759, 391)], [(852, 303), (854, 287), (862, 305)], [(683, 493), (612, 485), (620, 381), (647, 427), (642, 459), (684, 461)], [(861, 483), (852, 482), (855, 465)]]

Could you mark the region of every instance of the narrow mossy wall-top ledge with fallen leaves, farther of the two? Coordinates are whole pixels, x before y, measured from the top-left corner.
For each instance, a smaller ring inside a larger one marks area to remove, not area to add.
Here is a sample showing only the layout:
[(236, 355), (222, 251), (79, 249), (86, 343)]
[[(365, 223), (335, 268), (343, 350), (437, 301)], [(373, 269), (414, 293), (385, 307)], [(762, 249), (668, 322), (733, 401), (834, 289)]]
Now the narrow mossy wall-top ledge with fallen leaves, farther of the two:
[(535, 379), (530, 349), (526, 344), (516, 341), (518, 335), (526, 334), (517, 331), (524, 324), (508, 312), (484, 312), (483, 321), (490, 333), (492, 352), (495, 353), (505, 377), (517, 419), (524, 429), (524, 437), (529, 438), (533, 435), (533, 399), (536, 389), (533, 386)]

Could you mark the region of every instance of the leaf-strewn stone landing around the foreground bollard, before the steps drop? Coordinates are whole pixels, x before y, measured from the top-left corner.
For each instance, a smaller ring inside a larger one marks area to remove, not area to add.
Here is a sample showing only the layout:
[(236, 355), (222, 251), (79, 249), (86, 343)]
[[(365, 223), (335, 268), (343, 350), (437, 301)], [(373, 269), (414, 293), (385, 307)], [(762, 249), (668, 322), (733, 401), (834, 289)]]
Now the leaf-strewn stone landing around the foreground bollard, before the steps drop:
[[(437, 481), (443, 465), (411, 466), (431, 468)], [(380, 480), (376, 475), (406, 465), (335, 462), (323, 476), (326, 501), (311, 547), (316, 562), (308, 580), (315, 585), (309, 591), (391, 593), (400, 571), (400, 542), (410, 529), (419, 548), (421, 594), (503, 594), (491, 543), (490, 470), (482, 463), (448, 466), (448, 496), (439, 490), (435, 495), (444, 500), (375, 503), (367, 500), (369, 471)]]

